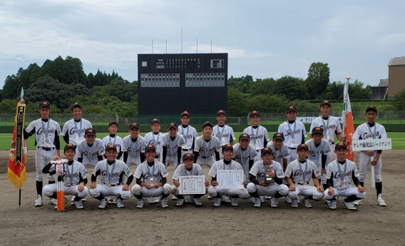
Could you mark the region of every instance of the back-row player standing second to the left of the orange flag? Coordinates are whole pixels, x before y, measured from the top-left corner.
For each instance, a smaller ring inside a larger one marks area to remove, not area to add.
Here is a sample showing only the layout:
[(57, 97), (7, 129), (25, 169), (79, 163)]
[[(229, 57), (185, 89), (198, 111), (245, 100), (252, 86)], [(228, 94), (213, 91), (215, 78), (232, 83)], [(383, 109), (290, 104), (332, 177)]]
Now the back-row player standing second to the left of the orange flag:
[(284, 135), (284, 143), (288, 146), (290, 158), (287, 163), (298, 158), (297, 147), (298, 145), (305, 143), (307, 133), (305, 132), (305, 126), (303, 123), (296, 121), (297, 108), (295, 106), (289, 106), (287, 108), (287, 121), (280, 124), (277, 132)]

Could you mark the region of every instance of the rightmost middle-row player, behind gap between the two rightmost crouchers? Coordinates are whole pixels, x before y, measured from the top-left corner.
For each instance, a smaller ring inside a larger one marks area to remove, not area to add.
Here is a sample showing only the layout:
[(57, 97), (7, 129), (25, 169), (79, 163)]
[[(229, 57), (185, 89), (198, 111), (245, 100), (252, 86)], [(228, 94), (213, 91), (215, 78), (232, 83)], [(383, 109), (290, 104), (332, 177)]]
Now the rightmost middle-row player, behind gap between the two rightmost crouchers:
[(327, 155), (331, 152), (329, 141), (324, 139), (324, 128), (314, 127), (311, 131), (312, 138), (309, 138), (305, 144), (308, 146), (308, 160), (313, 161), (317, 165), (317, 173), (322, 175), (322, 182), (324, 190), (327, 189), (327, 169), (326, 161)]

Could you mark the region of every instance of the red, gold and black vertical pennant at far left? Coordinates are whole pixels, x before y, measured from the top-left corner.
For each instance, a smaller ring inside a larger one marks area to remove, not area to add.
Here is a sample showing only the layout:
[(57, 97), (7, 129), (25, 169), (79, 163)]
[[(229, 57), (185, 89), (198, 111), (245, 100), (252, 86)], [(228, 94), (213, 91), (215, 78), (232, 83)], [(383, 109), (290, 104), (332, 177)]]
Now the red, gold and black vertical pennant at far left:
[(17, 103), (16, 118), (14, 120), (14, 132), (11, 140), (9, 155), (8, 177), (11, 183), (21, 190), (26, 180), (26, 141), (24, 140), (24, 116), (26, 105), (21, 98)]

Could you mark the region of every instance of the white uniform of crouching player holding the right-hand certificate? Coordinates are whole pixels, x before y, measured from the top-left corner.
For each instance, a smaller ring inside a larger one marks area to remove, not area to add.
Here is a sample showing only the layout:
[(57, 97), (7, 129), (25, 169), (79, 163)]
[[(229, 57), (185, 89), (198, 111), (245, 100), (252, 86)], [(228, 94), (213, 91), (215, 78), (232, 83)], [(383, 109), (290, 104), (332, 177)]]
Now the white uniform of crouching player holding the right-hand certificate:
[[(212, 178), (217, 177), (217, 170), (243, 170), (242, 166), (237, 163), (235, 160), (231, 160), (230, 164), (225, 164), (224, 160), (218, 160), (215, 163), (212, 163), (210, 168), (210, 175)], [(245, 175), (244, 175), (245, 176)], [(246, 177), (244, 177), (246, 180)], [(217, 188), (217, 186), (210, 185), (208, 188), (208, 193), (212, 198), (217, 197), (217, 195), (227, 195), (227, 196), (235, 196), (238, 195), (240, 198), (248, 198), (249, 193), (245, 188)]]

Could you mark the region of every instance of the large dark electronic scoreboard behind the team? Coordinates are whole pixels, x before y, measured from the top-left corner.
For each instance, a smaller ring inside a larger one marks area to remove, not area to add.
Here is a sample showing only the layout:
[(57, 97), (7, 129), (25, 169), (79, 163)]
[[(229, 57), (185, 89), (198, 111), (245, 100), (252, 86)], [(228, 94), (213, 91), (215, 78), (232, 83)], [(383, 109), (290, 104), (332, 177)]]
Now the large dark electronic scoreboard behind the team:
[(227, 53), (138, 54), (138, 117), (227, 110)]

